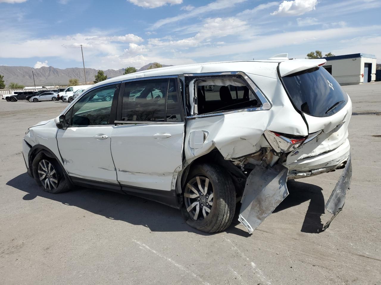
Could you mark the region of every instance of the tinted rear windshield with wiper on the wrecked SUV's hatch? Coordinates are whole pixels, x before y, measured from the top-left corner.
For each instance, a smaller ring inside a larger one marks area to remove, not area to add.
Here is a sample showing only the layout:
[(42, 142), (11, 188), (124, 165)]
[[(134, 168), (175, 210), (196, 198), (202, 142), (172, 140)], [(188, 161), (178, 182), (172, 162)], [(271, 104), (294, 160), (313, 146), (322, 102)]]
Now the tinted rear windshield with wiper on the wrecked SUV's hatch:
[(282, 80), (295, 107), (311, 116), (331, 116), (348, 101), (347, 93), (322, 67), (284, 76)]

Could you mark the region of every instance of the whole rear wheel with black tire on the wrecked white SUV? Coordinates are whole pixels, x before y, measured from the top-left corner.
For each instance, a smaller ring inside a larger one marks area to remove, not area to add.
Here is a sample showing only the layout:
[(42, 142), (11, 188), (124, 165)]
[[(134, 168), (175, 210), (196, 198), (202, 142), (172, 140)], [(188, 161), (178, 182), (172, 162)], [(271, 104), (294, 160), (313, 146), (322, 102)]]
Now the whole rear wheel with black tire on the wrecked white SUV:
[[(208, 187), (205, 187), (207, 182)], [(192, 185), (198, 194), (195, 194), (189, 185)], [(201, 185), (201, 188), (198, 185)], [(211, 190), (210, 187), (212, 187)], [(201, 189), (205, 193), (202, 193)], [(233, 180), (225, 169), (210, 163), (195, 165), (187, 176), (183, 193), (184, 203), (181, 212), (186, 223), (192, 228), (206, 233), (217, 233), (225, 230), (232, 223), (236, 194)], [(211, 198), (211, 193), (213, 193), (213, 198)], [(193, 198), (189, 198), (190, 196)], [(192, 207), (197, 202), (199, 203), (198, 214), (197, 204)], [(206, 211), (207, 209), (209, 212)]]

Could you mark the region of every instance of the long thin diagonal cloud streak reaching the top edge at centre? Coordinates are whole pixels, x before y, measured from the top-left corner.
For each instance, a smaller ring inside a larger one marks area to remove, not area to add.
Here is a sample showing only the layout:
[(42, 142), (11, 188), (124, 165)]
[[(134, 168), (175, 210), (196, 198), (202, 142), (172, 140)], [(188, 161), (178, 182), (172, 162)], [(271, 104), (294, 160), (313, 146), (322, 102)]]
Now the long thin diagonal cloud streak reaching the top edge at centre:
[(192, 11), (189, 11), (188, 13), (183, 13), (178, 16), (170, 17), (161, 19), (155, 24), (153, 24), (150, 29), (155, 30), (157, 28), (162, 27), (163, 25), (182, 21), (184, 19), (194, 18), (194, 17), (200, 17), (204, 13), (210, 13), (211, 11), (221, 10), (221, 9), (230, 9), (235, 4), (245, 2), (247, 0), (216, 0), (215, 2), (211, 2), (208, 5), (200, 6)]

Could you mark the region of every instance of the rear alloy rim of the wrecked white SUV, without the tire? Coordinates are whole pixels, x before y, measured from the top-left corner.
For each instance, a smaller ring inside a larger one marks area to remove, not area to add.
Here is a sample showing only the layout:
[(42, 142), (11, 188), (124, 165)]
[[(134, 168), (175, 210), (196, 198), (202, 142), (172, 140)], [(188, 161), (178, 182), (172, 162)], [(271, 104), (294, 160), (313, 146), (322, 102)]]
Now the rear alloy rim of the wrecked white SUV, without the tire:
[(208, 216), (213, 206), (213, 196), (213, 186), (207, 177), (197, 176), (187, 183), (185, 207), (193, 220), (203, 220)]

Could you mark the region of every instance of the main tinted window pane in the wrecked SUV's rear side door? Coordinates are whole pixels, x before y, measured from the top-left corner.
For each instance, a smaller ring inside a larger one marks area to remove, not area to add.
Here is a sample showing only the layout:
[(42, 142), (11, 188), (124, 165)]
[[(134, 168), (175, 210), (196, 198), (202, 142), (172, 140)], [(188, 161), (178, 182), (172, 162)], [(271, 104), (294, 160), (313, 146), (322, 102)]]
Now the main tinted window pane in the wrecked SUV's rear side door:
[(168, 78), (126, 82), (123, 93), (122, 120), (165, 121), (168, 83)]

